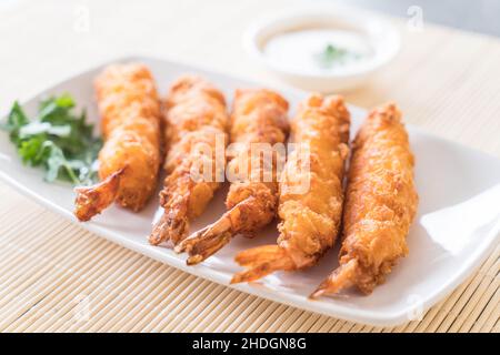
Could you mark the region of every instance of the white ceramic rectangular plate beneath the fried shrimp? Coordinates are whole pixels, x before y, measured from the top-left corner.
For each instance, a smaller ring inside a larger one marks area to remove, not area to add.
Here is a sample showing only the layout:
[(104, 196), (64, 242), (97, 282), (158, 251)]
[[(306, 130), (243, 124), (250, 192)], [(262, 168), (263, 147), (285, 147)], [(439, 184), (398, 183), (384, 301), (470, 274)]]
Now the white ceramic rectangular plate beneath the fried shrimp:
[[(149, 65), (162, 94), (172, 80), (184, 72), (206, 75), (223, 89), (228, 99), (231, 99), (236, 88), (256, 85), (164, 60), (128, 60)], [(47, 89), (26, 102), (24, 108), (32, 113), (40, 97), (70, 92), (80, 105), (88, 109), (90, 120), (97, 121), (92, 79), (99, 70), (100, 68), (89, 70)], [(291, 113), (307, 94), (290, 89), (279, 90), (290, 101)], [(354, 106), (350, 109), (354, 133), (366, 111)], [(401, 260), (387, 282), (377, 287), (372, 295), (362, 296), (353, 292), (342, 297), (318, 301), (307, 298), (337, 266), (337, 250), (328, 253), (319, 265), (308, 271), (277, 273), (258, 283), (231, 287), (338, 318), (373, 325), (396, 325), (418, 317), (464, 281), (498, 243), (500, 160), (429, 135), (417, 128), (408, 129), (417, 156), (419, 215), (408, 236), (410, 255)], [(23, 166), (4, 132), (0, 133), (0, 176), (33, 200), (76, 221), (72, 215), (72, 187), (62, 183), (48, 184), (43, 182), (40, 170)], [(226, 191), (227, 189), (219, 191), (207, 213), (192, 224), (192, 231), (220, 216), (224, 211)], [(113, 206), (93, 221), (80, 225), (128, 248), (224, 285), (229, 285), (231, 275), (240, 270), (232, 260), (238, 251), (272, 243), (278, 234), (274, 226), (269, 226), (253, 240), (236, 237), (204, 263), (187, 266), (184, 255), (178, 255), (167, 246), (154, 247), (148, 244), (147, 235), (157, 210), (158, 201), (151, 201), (139, 214)]]

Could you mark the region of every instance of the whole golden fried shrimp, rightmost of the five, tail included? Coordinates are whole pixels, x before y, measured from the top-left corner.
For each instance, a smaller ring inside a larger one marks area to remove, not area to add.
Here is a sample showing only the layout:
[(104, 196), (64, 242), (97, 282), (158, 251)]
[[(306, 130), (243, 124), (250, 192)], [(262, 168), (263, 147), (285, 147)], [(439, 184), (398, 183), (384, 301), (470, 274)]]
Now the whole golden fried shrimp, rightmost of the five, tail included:
[(408, 254), (406, 237), (417, 213), (418, 195), (413, 155), (397, 106), (390, 103), (373, 110), (352, 149), (340, 266), (312, 297), (350, 286), (370, 294)]

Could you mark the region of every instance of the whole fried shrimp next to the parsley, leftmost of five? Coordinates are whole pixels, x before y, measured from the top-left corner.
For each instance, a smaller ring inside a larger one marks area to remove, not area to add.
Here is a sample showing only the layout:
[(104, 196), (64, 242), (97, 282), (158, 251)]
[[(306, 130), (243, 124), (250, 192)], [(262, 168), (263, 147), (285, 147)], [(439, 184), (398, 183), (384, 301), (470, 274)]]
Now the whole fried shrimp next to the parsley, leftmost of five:
[(76, 212), (88, 221), (113, 201), (134, 212), (154, 192), (161, 161), (160, 103), (142, 64), (110, 65), (94, 82), (104, 145), (94, 186), (78, 187)]

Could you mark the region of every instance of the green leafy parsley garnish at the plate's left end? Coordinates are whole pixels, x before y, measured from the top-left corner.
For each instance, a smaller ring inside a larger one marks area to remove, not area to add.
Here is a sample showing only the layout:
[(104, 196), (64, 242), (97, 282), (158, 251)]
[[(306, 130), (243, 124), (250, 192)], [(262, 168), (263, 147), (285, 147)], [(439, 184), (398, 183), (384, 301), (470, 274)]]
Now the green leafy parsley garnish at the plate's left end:
[(97, 179), (94, 161), (102, 141), (93, 136), (93, 125), (86, 122), (86, 111), (80, 114), (73, 111), (74, 101), (69, 94), (41, 101), (38, 114), (31, 120), (14, 102), (1, 125), (9, 132), (22, 162), (43, 166), (48, 182), (89, 184)]

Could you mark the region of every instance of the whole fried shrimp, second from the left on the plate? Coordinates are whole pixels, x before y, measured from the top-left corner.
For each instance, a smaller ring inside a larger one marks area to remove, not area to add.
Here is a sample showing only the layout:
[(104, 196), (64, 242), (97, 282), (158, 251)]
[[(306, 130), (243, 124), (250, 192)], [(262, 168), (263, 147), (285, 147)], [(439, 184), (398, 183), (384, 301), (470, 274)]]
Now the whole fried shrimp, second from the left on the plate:
[(160, 192), (164, 213), (149, 237), (153, 245), (167, 240), (178, 244), (186, 237), (189, 221), (204, 211), (219, 189), (226, 164), (229, 118), (218, 89), (202, 78), (184, 75), (170, 88), (164, 106), (168, 176)]

